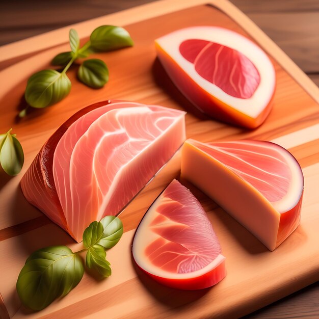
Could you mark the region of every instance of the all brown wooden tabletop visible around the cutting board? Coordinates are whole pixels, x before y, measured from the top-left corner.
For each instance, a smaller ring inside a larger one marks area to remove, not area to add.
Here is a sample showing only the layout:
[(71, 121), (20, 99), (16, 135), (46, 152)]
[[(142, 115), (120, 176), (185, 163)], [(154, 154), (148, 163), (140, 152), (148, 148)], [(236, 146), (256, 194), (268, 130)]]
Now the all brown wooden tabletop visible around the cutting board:
[[(0, 45), (148, 2), (150, 0), (2, 1), (0, 2)], [(231, 2), (270, 36), (319, 86), (319, 0), (231, 0)], [(245, 318), (301, 317), (319, 318), (319, 283), (308, 286)]]

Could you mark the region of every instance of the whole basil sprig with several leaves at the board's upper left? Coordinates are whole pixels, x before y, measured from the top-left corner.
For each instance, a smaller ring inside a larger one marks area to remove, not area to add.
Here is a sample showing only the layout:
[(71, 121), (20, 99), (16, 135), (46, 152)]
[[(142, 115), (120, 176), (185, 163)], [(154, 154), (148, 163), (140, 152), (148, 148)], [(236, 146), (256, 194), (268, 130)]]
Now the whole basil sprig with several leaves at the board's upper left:
[[(71, 90), (71, 81), (66, 75), (67, 70), (76, 59), (87, 58), (95, 51), (110, 51), (134, 43), (129, 33), (114, 25), (101, 25), (96, 28), (82, 47), (77, 32), (71, 29), (69, 32), (70, 51), (58, 54), (51, 61), (52, 65), (60, 66), (63, 70), (42, 70), (33, 74), (26, 84), (24, 97), (33, 108), (45, 108), (64, 99)], [(99, 59), (84, 61), (78, 69), (77, 77), (85, 85), (98, 89), (109, 81), (107, 65)], [(20, 117), (26, 115), (26, 110), (19, 113)]]

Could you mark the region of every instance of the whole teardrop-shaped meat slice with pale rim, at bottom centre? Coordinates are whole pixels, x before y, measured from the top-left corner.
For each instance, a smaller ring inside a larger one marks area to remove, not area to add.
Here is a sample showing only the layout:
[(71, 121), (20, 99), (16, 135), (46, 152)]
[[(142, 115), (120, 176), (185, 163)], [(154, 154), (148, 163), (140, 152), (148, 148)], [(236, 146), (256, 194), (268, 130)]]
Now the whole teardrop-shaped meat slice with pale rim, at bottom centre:
[(173, 288), (203, 289), (226, 276), (225, 257), (206, 212), (175, 179), (143, 217), (132, 255), (142, 271)]

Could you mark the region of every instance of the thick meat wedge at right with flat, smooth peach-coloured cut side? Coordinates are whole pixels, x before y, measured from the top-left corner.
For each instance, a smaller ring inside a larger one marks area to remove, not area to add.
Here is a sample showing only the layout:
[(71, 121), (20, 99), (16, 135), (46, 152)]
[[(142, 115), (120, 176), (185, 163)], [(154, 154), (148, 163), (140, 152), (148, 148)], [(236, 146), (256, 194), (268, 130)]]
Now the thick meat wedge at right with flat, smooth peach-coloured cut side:
[(181, 176), (190, 180), (271, 251), (299, 225), (302, 170), (283, 147), (264, 141), (185, 141)]

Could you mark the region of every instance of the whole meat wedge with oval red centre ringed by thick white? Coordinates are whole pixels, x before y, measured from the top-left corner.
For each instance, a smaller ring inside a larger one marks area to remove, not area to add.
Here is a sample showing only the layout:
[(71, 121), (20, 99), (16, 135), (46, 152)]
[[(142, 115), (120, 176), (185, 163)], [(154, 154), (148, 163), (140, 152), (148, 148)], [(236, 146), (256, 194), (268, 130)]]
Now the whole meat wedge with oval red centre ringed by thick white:
[(213, 118), (259, 126), (271, 111), (275, 69), (248, 38), (218, 26), (192, 26), (155, 41), (173, 83)]

